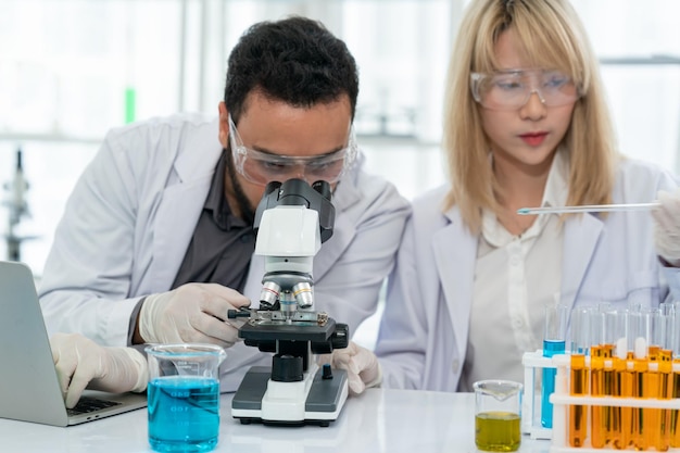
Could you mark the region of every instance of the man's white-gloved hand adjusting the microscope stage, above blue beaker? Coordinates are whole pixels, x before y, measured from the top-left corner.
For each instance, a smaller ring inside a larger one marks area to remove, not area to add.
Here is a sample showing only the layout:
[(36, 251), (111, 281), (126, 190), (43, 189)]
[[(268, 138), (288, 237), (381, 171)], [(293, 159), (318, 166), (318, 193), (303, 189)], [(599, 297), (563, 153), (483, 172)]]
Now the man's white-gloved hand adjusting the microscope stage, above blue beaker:
[(217, 284), (187, 284), (147, 297), (139, 313), (139, 334), (148, 343), (213, 343), (229, 348), (243, 322), (227, 312), (250, 300)]

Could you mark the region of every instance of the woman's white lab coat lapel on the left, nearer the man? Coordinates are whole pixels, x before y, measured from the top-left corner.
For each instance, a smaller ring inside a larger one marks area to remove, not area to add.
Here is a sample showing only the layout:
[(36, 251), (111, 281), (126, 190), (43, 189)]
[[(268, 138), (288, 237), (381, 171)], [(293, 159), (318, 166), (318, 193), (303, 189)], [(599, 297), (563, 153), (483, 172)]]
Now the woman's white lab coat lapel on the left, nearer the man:
[(450, 211), (448, 216), (451, 224), (435, 234), (431, 246), (457, 353), (463, 360), (467, 344), (478, 239), (465, 228), (457, 209)]

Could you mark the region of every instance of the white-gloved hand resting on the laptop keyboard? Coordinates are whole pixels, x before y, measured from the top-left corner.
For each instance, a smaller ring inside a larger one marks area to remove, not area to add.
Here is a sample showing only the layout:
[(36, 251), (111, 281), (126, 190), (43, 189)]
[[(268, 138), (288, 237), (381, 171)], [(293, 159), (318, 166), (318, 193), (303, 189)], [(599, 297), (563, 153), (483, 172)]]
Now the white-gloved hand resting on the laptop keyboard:
[(55, 334), (50, 347), (66, 407), (75, 406), (86, 388), (113, 393), (147, 388), (147, 360), (133, 348), (101, 347), (78, 334)]

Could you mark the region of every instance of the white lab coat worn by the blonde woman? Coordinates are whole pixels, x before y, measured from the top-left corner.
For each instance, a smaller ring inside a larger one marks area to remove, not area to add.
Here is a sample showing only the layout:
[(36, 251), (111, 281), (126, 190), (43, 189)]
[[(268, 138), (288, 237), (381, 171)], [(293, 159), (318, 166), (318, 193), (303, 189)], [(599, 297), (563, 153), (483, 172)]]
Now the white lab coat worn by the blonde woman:
[[(624, 161), (613, 199), (648, 202), (658, 190), (677, 187), (676, 178), (651, 164)], [(413, 202), (376, 345), (386, 387), (456, 391), (458, 386), (478, 237), (465, 228), (457, 207), (442, 213), (446, 191), (441, 187)], [(569, 309), (602, 301), (656, 306), (673, 295), (680, 300), (680, 269), (660, 266), (648, 213), (609, 213), (604, 219), (584, 214), (569, 217), (564, 228), (561, 297)]]

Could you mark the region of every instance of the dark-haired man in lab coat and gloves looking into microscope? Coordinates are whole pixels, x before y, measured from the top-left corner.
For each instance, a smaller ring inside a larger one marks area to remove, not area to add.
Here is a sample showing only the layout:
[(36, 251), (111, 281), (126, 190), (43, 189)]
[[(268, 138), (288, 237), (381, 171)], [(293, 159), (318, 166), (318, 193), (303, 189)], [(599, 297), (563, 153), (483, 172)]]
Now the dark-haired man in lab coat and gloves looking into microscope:
[(316, 307), (350, 332), (375, 311), (408, 205), (362, 169), (357, 93), (344, 42), (290, 17), (241, 37), (217, 119), (175, 115), (109, 133), (68, 200), (40, 288), (67, 406), (86, 386), (143, 390), (135, 344), (230, 348), (223, 391), (265, 363), (237, 342), (227, 312), (257, 300), (253, 213), (272, 180), (331, 184), (336, 225), (314, 260)]

